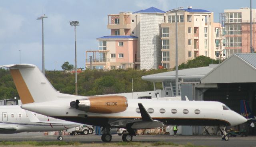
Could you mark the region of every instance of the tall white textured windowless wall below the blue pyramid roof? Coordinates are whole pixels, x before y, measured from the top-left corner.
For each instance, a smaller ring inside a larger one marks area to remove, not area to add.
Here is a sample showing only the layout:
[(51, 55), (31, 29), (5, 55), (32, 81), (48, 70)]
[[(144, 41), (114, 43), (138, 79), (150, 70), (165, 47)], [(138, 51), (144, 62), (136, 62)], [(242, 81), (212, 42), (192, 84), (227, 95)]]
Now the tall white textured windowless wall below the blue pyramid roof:
[(140, 14), (140, 69), (157, 69), (161, 64), (162, 20), (162, 14)]

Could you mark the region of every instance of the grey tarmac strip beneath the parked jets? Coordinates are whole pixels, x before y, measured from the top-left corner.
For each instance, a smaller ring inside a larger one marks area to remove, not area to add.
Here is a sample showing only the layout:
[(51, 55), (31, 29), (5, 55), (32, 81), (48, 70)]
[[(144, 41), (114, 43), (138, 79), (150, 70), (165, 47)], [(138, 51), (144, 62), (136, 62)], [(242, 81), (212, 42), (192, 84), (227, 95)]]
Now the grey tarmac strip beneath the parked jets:
[[(43, 135), (42, 132), (0, 134), (0, 141), (57, 141), (57, 135)], [(63, 141), (76, 141), (81, 143), (103, 143), (100, 135), (63, 135)], [(111, 142), (120, 142), (122, 137), (112, 135)], [(208, 147), (256, 147), (256, 136), (230, 137), (229, 141), (222, 141), (220, 136), (172, 136), (172, 135), (139, 135), (132, 141), (157, 142), (168, 141), (176, 144), (204, 145)]]

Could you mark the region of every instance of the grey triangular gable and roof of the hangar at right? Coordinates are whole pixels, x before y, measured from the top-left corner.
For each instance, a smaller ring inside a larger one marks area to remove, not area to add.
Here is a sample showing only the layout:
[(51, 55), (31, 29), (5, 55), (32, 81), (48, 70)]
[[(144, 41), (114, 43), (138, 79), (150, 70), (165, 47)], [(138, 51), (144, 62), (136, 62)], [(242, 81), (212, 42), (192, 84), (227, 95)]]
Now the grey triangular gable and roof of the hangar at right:
[(256, 54), (234, 54), (201, 79), (201, 83), (256, 82)]

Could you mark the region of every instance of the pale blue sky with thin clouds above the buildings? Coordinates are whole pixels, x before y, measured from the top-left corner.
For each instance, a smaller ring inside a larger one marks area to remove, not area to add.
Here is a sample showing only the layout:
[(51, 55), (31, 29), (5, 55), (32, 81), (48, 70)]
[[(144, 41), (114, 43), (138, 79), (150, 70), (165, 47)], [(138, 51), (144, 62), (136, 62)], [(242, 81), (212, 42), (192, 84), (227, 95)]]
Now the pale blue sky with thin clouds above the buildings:
[(250, 7), (250, 0), (0, 0), (0, 65), (19, 63), (21, 53), (21, 63), (42, 69), (42, 21), (36, 19), (45, 14), (45, 69), (62, 70), (65, 61), (75, 64), (72, 20), (80, 22), (76, 27), (77, 64), (85, 68), (85, 51), (98, 49), (96, 38), (110, 35), (108, 14), (151, 6), (163, 11), (192, 6), (214, 12), (214, 22), (219, 22), (224, 9)]

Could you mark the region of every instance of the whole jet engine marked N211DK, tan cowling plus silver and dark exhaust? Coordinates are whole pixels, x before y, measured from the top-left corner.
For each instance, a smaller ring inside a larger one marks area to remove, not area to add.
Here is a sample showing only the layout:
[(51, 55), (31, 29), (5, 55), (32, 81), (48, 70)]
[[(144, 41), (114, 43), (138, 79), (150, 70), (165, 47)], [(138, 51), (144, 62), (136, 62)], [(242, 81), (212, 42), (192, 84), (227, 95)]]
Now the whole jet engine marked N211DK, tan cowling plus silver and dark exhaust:
[(70, 106), (85, 112), (110, 114), (125, 111), (128, 101), (124, 96), (93, 96), (70, 102)]

